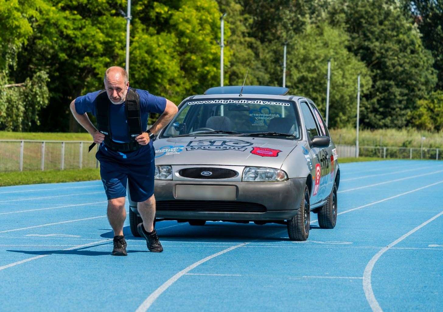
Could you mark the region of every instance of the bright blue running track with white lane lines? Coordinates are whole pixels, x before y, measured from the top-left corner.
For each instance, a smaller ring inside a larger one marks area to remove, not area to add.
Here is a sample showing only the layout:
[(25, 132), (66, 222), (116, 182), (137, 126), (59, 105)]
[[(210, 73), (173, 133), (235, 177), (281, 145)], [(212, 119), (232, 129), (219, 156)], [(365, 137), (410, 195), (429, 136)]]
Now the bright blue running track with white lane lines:
[(443, 162), (342, 164), (338, 213), (306, 242), (163, 221), (159, 254), (127, 219), (113, 257), (101, 181), (2, 187), (0, 311), (443, 311)]

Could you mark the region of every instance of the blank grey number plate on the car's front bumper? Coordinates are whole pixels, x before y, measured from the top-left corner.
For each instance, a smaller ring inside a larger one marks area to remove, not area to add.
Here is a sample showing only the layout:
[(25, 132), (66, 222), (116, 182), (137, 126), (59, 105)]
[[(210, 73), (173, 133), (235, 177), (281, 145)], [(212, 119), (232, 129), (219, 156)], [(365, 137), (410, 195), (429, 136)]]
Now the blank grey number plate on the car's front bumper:
[(237, 188), (232, 185), (177, 185), (177, 199), (235, 200)]

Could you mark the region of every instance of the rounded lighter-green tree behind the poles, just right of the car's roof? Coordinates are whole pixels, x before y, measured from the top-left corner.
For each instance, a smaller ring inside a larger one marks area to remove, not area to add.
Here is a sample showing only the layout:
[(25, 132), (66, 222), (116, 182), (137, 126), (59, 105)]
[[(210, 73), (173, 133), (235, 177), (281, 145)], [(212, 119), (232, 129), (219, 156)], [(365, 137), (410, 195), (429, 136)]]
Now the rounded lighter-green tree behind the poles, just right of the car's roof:
[(320, 111), (326, 111), (327, 62), (331, 59), (330, 127), (354, 122), (357, 111), (357, 75), (361, 92), (371, 85), (369, 71), (346, 46), (349, 37), (325, 23), (310, 25), (288, 46), (287, 86), (292, 93), (311, 98)]

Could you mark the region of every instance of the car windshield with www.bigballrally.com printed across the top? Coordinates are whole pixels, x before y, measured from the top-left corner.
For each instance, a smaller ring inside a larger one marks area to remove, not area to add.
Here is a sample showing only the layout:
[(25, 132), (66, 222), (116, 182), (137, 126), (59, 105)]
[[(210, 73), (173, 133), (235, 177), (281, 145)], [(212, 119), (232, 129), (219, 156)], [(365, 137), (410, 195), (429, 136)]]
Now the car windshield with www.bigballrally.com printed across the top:
[(276, 132), (300, 139), (295, 103), (248, 98), (189, 100), (166, 127), (162, 137), (258, 132)]

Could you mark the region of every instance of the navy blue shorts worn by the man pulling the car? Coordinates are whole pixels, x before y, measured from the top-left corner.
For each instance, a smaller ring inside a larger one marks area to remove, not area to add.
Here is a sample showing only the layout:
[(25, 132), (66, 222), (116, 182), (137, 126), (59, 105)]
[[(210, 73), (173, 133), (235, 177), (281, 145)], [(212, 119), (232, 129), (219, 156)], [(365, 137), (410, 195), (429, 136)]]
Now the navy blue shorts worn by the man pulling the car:
[(100, 162), (100, 176), (109, 199), (126, 196), (129, 185), (131, 200), (141, 202), (154, 194), (155, 151), (151, 147), (145, 157), (115, 159), (101, 152), (95, 155)]

